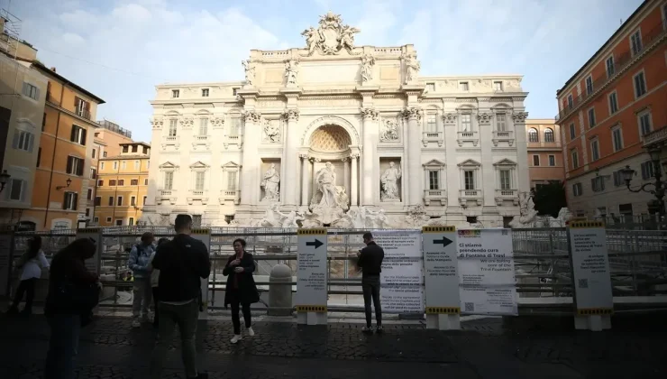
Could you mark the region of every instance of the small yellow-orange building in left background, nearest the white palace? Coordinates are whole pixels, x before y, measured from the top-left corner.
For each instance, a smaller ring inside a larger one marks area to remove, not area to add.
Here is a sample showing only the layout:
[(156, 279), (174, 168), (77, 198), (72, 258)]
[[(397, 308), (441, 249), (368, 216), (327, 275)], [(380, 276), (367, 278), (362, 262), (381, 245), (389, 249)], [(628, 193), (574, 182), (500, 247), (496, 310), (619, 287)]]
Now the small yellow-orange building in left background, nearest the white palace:
[(96, 226), (132, 226), (142, 217), (148, 193), (151, 145), (120, 143), (121, 153), (97, 165)]

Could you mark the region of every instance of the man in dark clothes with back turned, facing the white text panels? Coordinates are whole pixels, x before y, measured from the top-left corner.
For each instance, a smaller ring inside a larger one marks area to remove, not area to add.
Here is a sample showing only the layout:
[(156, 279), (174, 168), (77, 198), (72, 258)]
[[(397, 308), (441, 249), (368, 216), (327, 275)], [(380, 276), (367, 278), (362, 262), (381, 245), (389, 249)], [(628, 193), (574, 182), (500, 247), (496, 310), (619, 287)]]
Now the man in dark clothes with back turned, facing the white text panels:
[(363, 234), (363, 243), (366, 247), (357, 254), (359, 256), (359, 267), (361, 267), (361, 290), (363, 291), (363, 306), (366, 309), (366, 328), (365, 333), (372, 333), (373, 328), (370, 325), (371, 311), (370, 300), (373, 300), (375, 308), (375, 319), (378, 323), (378, 332), (382, 331), (382, 307), (379, 304), (379, 273), (382, 272), (382, 260), (385, 257), (385, 251), (375, 244), (373, 235), (369, 232)]

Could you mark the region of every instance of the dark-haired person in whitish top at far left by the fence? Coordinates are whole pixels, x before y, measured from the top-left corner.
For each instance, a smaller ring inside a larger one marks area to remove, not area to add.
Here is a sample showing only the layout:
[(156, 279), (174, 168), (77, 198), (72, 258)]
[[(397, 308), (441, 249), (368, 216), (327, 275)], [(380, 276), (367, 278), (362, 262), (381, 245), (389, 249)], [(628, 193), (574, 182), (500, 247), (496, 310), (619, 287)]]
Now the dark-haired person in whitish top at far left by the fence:
[(30, 316), (32, 314), (32, 300), (35, 297), (35, 285), (41, 278), (41, 269), (49, 268), (49, 261), (46, 260), (44, 252), (41, 251), (41, 236), (32, 236), (28, 240), (28, 251), (21, 256), (18, 267), (22, 269), (19, 277), (21, 282), (16, 289), (14, 301), (7, 310), (7, 314), (15, 315), (19, 313), (19, 303), (23, 300), (23, 294), (25, 293), (25, 307), (21, 314)]

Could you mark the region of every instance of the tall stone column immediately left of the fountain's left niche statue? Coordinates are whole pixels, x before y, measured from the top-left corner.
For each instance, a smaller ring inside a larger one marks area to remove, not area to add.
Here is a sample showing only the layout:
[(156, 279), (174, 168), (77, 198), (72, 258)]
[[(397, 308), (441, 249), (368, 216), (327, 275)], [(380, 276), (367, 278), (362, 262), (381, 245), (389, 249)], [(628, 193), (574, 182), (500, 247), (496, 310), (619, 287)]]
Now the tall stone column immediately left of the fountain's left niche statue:
[(243, 113), (245, 133), (243, 139), (250, 143), (243, 143), (243, 163), (241, 170), (241, 203), (243, 205), (257, 204), (260, 202), (260, 160), (257, 156), (256, 141), (260, 139), (261, 115), (254, 110)]

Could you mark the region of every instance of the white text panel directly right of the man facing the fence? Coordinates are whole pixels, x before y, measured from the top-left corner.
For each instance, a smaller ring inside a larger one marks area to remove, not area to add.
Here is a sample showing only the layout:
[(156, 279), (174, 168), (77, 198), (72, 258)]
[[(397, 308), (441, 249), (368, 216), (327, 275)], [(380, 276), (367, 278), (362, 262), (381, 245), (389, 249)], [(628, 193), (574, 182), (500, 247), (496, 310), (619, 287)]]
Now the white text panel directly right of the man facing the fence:
[(385, 313), (424, 314), (424, 263), (421, 231), (375, 230), (373, 239), (385, 251), (379, 297)]

